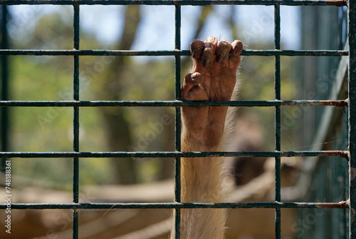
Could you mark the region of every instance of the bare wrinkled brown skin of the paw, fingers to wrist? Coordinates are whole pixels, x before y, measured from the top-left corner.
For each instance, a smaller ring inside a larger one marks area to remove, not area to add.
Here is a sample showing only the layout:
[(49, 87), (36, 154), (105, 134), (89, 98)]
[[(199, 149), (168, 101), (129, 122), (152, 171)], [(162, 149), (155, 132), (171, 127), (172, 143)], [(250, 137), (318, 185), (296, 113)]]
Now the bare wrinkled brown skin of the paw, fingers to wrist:
[[(184, 78), (182, 101), (230, 101), (236, 84), (236, 71), (243, 50), (241, 41), (206, 41), (191, 44), (192, 73)], [(229, 56), (231, 54), (231, 56)], [(216, 151), (224, 133), (227, 107), (182, 107), (182, 138), (196, 151)]]

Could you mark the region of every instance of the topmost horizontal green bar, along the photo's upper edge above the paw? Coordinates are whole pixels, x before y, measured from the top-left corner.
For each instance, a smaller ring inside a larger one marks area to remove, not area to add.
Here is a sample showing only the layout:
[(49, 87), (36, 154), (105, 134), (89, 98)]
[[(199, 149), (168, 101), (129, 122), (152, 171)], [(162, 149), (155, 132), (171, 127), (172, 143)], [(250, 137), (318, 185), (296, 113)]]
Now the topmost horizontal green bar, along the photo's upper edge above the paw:
[(318, 0), (1, 0), (0, 4), (56, 4), (56, 5), (288, 5), (288, 6), (346, 6), (346, 1)]

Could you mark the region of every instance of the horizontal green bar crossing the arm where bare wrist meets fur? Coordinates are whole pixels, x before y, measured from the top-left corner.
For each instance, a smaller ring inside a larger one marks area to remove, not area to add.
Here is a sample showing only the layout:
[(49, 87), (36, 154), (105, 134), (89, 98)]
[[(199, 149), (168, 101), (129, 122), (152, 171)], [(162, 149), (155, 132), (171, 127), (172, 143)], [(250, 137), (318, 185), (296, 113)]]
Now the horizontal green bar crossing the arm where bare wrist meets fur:
[(197, 158), (197, 157), (314, 157), (339, 156), (347, 151), (242, 151), (242, 152), (0, 152), (2, 158)]

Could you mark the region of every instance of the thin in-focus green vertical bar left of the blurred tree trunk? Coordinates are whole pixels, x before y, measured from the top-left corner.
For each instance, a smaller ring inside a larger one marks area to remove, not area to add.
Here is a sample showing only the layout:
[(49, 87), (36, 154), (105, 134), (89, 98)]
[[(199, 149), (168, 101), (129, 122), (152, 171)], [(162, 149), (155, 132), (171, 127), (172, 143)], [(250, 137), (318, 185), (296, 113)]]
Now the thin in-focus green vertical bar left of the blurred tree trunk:
[[(74, 5), (73, 49), (79, 50), (79, 5)], [(73, 99), (79, 101), (79, 56), (73, 56)], [(73, 107), (73, 151), (79, 152), (79, 107)], [(73, 158), (73, 203), (79, 203), (79, 158)], [(78, 238), (79, 215), (73, 210), (73, 239)]]

